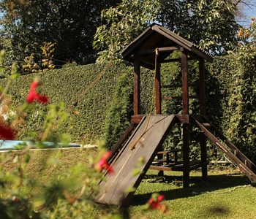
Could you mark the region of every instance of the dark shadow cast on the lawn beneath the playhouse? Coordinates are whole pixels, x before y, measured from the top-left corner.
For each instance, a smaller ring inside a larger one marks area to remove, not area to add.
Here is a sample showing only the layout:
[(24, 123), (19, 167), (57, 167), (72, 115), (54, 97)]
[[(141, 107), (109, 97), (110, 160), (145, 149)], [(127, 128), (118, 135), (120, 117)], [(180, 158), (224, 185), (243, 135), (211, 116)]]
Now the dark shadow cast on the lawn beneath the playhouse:
[[(149, 180), (148, 180), (149, 179)], [(165, 195), (165, 200), (173, 200), (173, 199), (181, 199), (187, 198), (190, 196), (195, 196), (200, 193), (206, 192), (214, 192), (220, 189), (225, 188), (233, 188), (236, 186), (243, 186), (249, 185), (250, 181), (249, 178), (243, 176), (241, 174), (217, 174), (217, 175), (210, 175), (207, 177), (207, 180), (203, 180), (202, 177), (190, 177), (190, 187), (183, 188), (183, 177), (182, 176), (167, 176), (162, 178), (162, 182), (160, 177), (156, 179), (156, 175), (146, 175), (146, 182), (150, 183), (150, 179), (152, 179), (152, 183), (163, 183), (168, 184), (170, 183), (170, 190), (156, 190), (153, 193), (161, 193)], [(145, 180), (144, 180), (145, 182)], [(151, 183), (150, 183), (151, 184)], [(159, 186), (157, 186), (159, 188)], [(148, 193), (135, 193), (132, 197), (131, 206), (143, 205), (150, 199), (151, 192)], [(213, 208), (211, 209), (214, 212), (225, 212), (225, 209)]]

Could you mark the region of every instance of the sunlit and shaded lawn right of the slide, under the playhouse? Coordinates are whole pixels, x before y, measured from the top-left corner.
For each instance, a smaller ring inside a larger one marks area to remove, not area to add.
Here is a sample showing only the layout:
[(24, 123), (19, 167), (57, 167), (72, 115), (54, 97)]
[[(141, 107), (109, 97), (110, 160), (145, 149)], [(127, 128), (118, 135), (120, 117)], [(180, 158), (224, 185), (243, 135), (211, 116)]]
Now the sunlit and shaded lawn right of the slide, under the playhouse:
[[(207, 181), (201, 180), (200, 172), (192, 172), (190, 188), (182, 187), (180, 173), (171, 174), (167, 182), (140, 184), (132, 199), (131, 218), (141, 215), (141, 205), (153, 192), (165, 195), (168, 210), (145, 212), (144, 218), (255, 218), (256, 189), (240, 188), (249, 180), (236, 170), (210, 171)], [(148, 176), (154, 175), (148, 172)]]

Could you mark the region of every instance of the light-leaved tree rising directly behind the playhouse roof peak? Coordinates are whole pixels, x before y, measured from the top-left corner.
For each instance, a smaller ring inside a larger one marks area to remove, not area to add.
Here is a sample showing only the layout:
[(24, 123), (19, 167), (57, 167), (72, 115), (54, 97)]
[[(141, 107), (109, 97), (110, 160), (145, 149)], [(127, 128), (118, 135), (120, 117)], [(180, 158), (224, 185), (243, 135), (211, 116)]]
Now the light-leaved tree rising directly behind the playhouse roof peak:
[(98, 60), (116, 57), (152, 22), (213, 55), (225, 53), (231, 48), (230, 42), (236, 42), (238, 4), (231, 0), (123, 0), (116, 7), (102, 11), (105, 24), (97, 28), (94, 37), (94, 47), (100, 50)]

